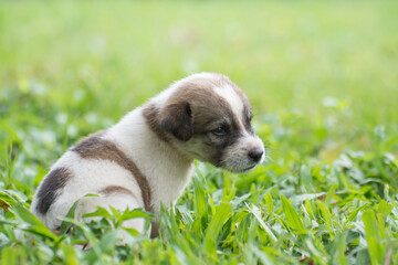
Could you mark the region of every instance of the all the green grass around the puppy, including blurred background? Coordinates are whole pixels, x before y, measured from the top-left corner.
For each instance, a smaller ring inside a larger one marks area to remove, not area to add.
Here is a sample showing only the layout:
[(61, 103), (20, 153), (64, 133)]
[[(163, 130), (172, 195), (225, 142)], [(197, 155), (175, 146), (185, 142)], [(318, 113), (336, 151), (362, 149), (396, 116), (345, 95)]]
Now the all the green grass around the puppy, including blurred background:
[[(0, 263), (398, 264), (397, 13), (396, 1), (1, 1)], [(29, 212), (67, 147), (200, 71), (247, 92), (264, 165), (198, 162), (156, 240), (121, 226), (139, 210), (59, 234)]]

